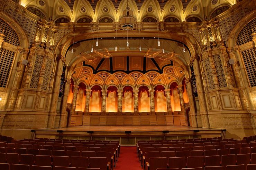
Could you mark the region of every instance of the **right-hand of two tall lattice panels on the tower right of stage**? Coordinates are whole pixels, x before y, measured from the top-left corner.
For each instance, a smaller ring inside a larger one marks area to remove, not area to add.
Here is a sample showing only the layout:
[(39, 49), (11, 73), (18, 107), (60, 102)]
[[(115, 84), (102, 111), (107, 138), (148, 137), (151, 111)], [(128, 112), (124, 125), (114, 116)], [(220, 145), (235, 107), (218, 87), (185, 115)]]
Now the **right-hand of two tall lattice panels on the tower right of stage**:
[(213, 55), (213, 61), (218, 76), (219, 87), (227, 87), (227, 82), (223, 71), (220, 55)]

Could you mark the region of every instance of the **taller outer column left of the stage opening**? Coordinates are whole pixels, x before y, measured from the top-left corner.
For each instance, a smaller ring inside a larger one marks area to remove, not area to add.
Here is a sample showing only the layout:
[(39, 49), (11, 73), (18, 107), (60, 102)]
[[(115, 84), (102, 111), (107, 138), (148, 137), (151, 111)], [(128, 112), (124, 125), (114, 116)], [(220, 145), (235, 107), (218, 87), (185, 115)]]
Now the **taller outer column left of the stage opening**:
[(57, 109), (57, 100), (60, 93), (60, 84), (61, 84), (61, 75), (63, 70), (63, 64), (65, 63), (65, 58), (62, 55), (56, 56), (57, 66), (55, 74), (55, 84), (53, 86), (51, 106), (48, 116), (47, 128), (54, 128), (55, 118), (56, 118), (56, 109)]

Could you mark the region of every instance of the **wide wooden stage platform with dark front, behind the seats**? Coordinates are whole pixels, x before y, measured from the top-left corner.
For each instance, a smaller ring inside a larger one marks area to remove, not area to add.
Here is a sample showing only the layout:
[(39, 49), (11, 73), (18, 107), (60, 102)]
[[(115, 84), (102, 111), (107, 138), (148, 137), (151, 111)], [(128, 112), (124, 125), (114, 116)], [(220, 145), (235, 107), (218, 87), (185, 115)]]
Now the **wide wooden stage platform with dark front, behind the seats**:
[(73, 126), (38, 129), (34, 133), (41, 138), (119, 140), (121, 145), (135, 145), (137, 140), (220, 137), (223, 132), (188, 126)]

